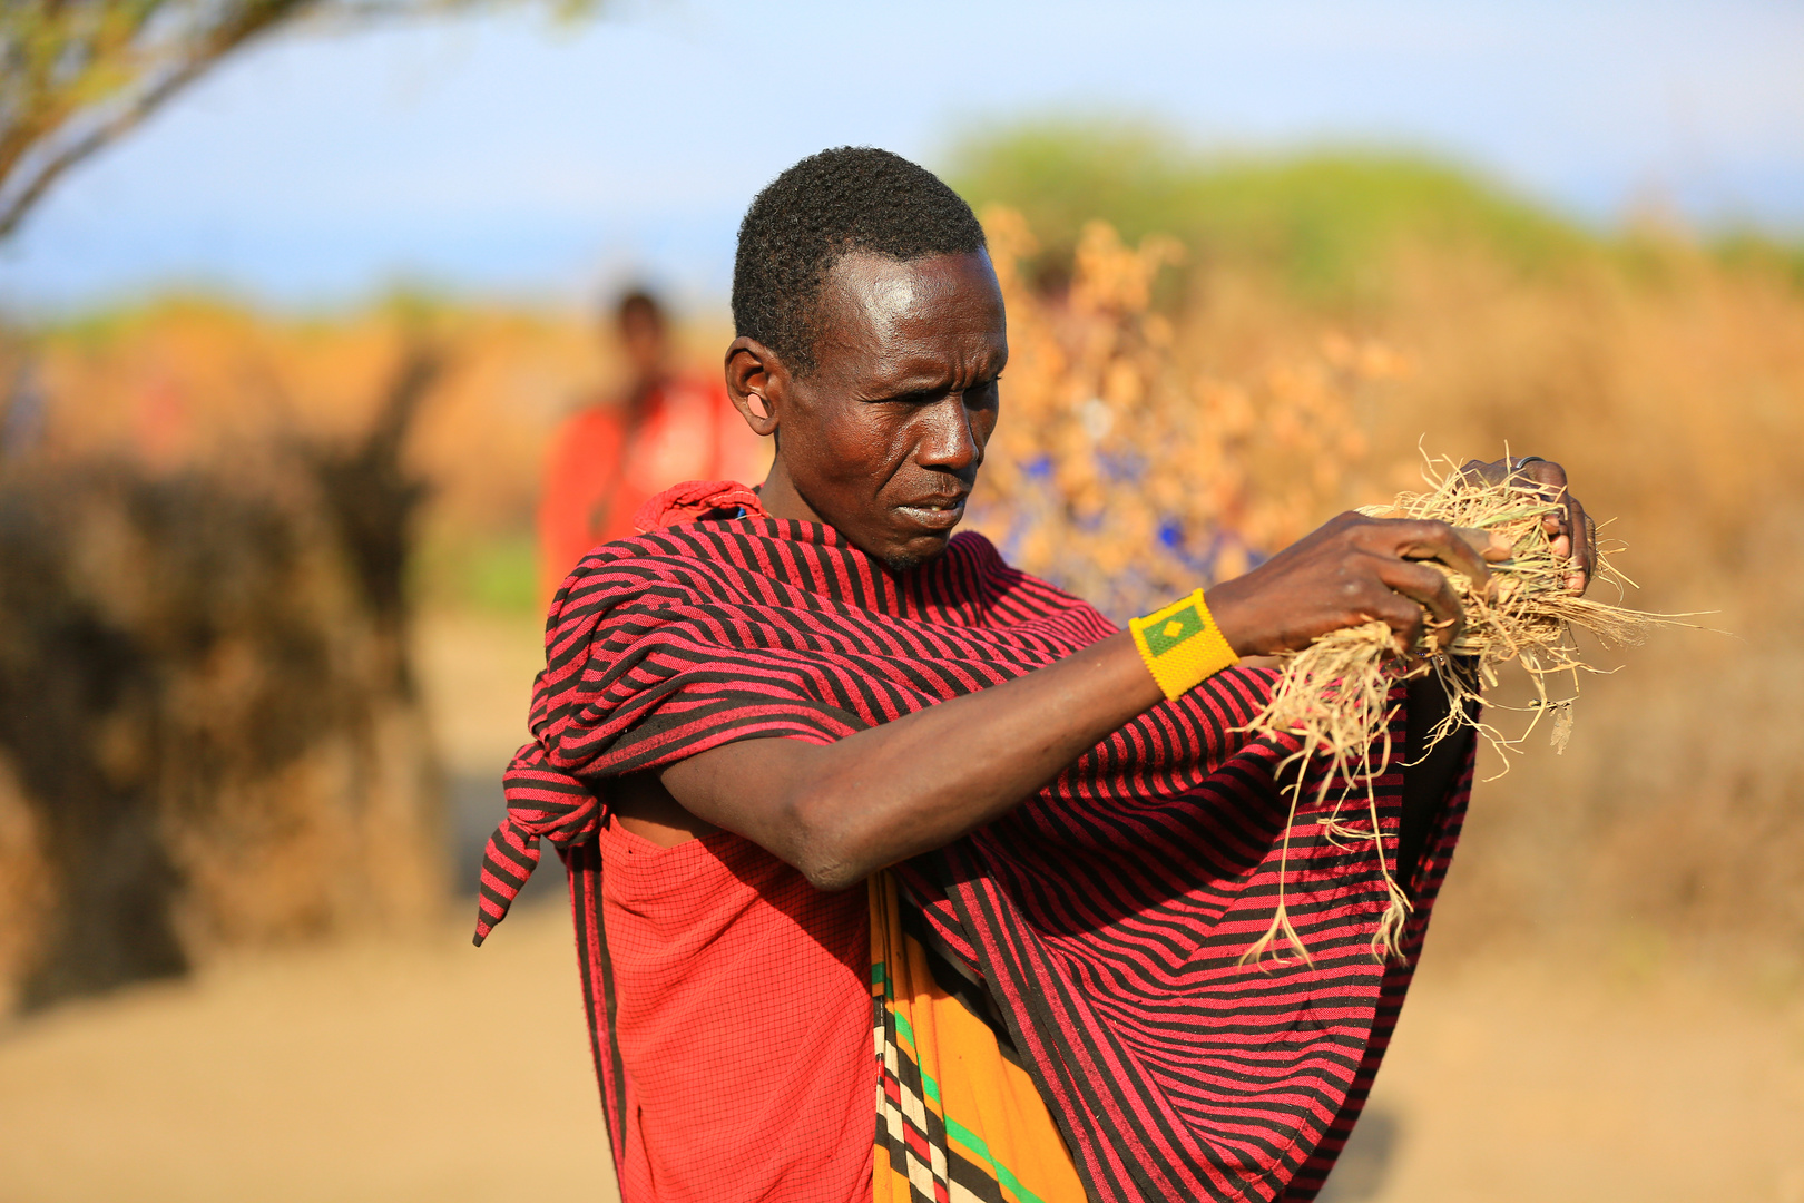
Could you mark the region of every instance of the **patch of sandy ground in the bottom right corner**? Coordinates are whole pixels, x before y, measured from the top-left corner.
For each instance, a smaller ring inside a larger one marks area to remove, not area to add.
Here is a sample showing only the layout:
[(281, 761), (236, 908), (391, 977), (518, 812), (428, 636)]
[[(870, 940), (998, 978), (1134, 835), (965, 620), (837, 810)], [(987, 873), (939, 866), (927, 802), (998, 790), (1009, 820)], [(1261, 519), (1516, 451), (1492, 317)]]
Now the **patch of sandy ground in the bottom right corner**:
[(1804, 1203), (1804, 1006), (1680, 969), (1447, 969), (1431, 947), (1373, 1115), (1355, 1142), (1389, 1134), (1387, 1172), (1342, 1203)]

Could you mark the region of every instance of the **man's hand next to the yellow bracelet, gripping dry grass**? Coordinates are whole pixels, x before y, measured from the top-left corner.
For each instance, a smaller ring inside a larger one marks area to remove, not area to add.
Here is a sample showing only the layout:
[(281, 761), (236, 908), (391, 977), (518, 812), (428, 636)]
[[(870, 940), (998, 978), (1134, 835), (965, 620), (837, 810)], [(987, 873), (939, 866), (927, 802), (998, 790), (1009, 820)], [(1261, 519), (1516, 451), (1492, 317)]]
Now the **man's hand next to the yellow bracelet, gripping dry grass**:
[(1209, 590), (1207, 602), (1243, 657), (1301, 651), (1328, 631), (1375, 619), (1396, 633), (1400, 653), (1413, 649), (1423, 629), (1445, 647), (1459, 635), (1465, 608), (1447, 577), (1423, 561), (1440, 561), (1483, 588), (1486, 557), (1508, 556), (1501, 539), (1483, 554), (1474, 550), (1447, 523), (1348, 512)]

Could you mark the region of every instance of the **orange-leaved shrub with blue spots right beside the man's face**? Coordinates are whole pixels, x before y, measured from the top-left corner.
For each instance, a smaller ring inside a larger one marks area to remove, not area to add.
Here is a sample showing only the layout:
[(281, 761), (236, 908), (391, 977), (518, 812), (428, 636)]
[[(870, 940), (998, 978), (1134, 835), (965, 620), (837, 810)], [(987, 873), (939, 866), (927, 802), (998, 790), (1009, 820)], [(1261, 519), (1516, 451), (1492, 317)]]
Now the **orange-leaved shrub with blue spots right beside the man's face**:
[[(1221, 363), (1155, 307), (1169, 238), (1100, 224), (1034, 281), (1019, 215), (985, 215), (1008, 305), (1003, 420), (974, 519), (1023, 568), (1117, 619), (1245, 572), (1315, 523), (1366, 453), (1357, 400), (1402, 370), (1376, 341)], [(1301, 467), (1301, 471), (1297, 471)]]

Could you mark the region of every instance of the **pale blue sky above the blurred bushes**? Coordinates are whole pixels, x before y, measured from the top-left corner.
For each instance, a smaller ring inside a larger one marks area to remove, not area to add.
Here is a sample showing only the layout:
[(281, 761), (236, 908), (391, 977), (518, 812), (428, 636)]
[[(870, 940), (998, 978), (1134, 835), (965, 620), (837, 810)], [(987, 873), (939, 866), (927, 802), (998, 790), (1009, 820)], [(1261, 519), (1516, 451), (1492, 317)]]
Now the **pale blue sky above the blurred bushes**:
[(0, 305), (575, 301), (624, 276), (718, 303), (738, 215), (794, 159), (933, 166), (1045, 112), (1427, 148), (1593, 222), (1658, 200), (1804, 229), (1797, 0), (631, 0), (256, 47), (0, 245)]

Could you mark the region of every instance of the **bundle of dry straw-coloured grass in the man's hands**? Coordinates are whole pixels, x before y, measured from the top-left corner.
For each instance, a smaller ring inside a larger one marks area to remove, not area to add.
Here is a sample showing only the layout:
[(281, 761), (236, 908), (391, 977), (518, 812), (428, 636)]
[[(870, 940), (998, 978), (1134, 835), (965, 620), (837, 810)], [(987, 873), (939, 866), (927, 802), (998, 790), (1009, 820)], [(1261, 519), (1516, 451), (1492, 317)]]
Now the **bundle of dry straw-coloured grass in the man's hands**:
[[(1454, 469), (1452, 462), (1429, 460), (1423, 478), (1427, 492), (1404, 492), (1387, 507), (1367, 507), (1373, 518), (1418, 518), (1456, 527), (1474, 543), (1494, 536), (1510, 546), (1510, 559), (1492, 565), (1492, 579), (1483, 586), (1447, 566), (1436, 565), (1450, 581), (1465, 610), (1465, 626), (1445, 647), (1436, 649), (1432, 633), (1423, 635), (1411, 655), (1396, 655), (1396, 640), (1384, 622), (1333, 631), (1308, 647), (1284, 657), (1283, 673), (1272, 691), (1272, 702), (1250, 725), (1256, 736), (1290, 734), (1301, 738), (1299, 750), (1284, 768), (1299, 768), (1290, 786), (1290, 813), (1295, 821), (1306, 776), (1301, 763), (1324, 758), (1328, 772), (1315, 774), (1317, 804), (1326, 803), (1335, 781), (1366, 786), (1367, 813), (1358, 821), (1342, 817), (1340, 806), (1322, 821), (1322, 830), (1337, 844), (1371, 840), (1378, 848), (1378, 866), (1389, 889), (1391, 904), (1373, 934), (1373, 954), (1385, 958), (1396, 950), (1409, 898), (1396, 882), (1393, 866), (1384, 859), (1378, 840), (1378, 806), (1373, 781), (1391, 763), (1393, 747), (1387, 736), (1391, 712), (1391, 685), (1413, 676), (1432, 675), (1447, 691), (1447, 718), (1431, 732), (1429, 747), (1449, 738), (1459, 727), (1472, 727), (1490, 739), (1492, 747), (1508, 756), (1539, 725), (1553, 714), (1553, 747), (1566, 748), (1571, 736), (1571, 707), (1578, 694), (1578, 675), (1600, 671), (1588, 664), (1577, 633), (1588, 631), (1604, 646), (1638, 644), (1651, 628), (1689, 626), (1683, 615), (1658, 615), (1625, 610), (1618, 604), (1580, 597), (1568, 588), (1575, 561), (1559, 556), (1546, 532), (1544, 519), (1564, 509), (1564, 498), (1528, 476), (1512, 476), (1501, 483), (1486, 483)], [(1593, 588), (1615, 590), (1620, 599), (1631, 586), (1611, 563), (1620, 545), (1598, 545)], [(1508, 736), (1479, 718), (1476, 705), (1485, 685), (1497, 684), (1497, 669), (1517, 664), (1535, 687), (1535, 700), (1526, 707), (1530, 721), (1519, 736)], [(1550, 680), (1571, 678), (1566, 696), (1550, 693)], [(1288, 824), (1286, 824), (1288, 826)], [(1284, 909), (1284, 868), (1279, 868), (1279, 904), (1272, 925), (1245, 960), (1265, 956), (1283, 934), (1290, 945), (1310, 960)]]

